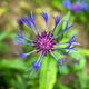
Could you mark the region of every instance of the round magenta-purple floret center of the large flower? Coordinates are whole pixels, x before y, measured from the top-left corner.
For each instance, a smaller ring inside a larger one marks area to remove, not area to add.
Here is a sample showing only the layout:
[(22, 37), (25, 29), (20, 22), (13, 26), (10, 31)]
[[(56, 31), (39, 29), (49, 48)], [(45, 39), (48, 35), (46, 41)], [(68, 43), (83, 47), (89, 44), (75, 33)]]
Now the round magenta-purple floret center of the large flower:
[(43, 55), (47, 55), (53, 48), (53, 36), (52, 33), (44, 31), (41, 34), (36, 36), (33, 43), (38, 52), (41, 51)]

